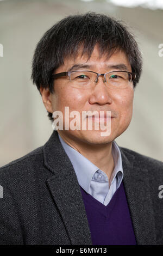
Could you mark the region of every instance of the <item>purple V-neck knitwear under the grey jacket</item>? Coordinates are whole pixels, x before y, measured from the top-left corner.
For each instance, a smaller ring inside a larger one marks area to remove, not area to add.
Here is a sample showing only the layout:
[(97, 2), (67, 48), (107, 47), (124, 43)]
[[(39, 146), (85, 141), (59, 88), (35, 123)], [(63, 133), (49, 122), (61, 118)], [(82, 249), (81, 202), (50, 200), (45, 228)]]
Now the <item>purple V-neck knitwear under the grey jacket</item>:
[(123, 181), (108, 205), (80, 187), (91, 231), (92, 245), (136, 245)]

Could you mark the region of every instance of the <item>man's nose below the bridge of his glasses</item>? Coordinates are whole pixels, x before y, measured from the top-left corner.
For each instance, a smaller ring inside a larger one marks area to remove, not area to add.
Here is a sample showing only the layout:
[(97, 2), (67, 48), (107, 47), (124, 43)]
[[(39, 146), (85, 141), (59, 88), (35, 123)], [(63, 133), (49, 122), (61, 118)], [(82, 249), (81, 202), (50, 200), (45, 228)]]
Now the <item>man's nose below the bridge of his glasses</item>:
[(89, 103), (98, 103), (99, 105), (112, 103), (112, 95), (108, 86), (105, 84), (104, 76), (97, 78), (96, 86), (93, 88), (89, 97)]

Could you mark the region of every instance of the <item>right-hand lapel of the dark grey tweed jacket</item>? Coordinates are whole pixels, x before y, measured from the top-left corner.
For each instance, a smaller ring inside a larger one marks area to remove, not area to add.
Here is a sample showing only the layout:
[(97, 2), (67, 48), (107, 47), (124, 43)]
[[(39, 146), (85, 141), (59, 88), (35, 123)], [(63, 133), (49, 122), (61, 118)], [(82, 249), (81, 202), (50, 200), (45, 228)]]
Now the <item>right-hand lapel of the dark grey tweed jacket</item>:
[(156, 245), (153, 204), (148, 170), (133, 165), (134, 156), (121, 149), (123, 184), (138, 245)]

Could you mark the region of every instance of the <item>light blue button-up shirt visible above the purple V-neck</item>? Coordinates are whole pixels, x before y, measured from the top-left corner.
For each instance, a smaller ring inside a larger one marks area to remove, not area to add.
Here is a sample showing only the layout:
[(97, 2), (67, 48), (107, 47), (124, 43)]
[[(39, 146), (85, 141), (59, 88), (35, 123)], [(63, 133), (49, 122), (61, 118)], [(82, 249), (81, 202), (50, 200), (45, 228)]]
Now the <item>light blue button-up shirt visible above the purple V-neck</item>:
[(123, 179), (122, 157), (117, 143), (112, 143), (112, 156), (115, 168), (111, 174), (111, 184), (109, 187), (108, 176), (99, 169), (95, 164), (89, 161), (85, 156), (68, 145), (58, 133), (62, 147), (69, 157), (74, 171), (76, 172), (79, 185), (86, 193), (97, 199), (105, 206), (109, 204), (112, 196), (120, 187)]

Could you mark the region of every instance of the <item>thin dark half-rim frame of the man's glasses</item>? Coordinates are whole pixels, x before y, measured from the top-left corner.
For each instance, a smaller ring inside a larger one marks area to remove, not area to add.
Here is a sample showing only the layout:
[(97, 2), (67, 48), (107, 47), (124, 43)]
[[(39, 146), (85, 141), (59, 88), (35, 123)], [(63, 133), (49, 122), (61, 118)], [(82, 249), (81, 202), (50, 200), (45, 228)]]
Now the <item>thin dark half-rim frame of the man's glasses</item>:
[(109, 73), (112, 73), (112, 72), (126, 72), (126, 73), (130, 74), (131, 75), (131, 82), (133, 82), (136, 78), (136, 74), (134, 72), (124, 71), (124, 70), (115, 70), (115, 71), (106, 72), (104, 74), (99, 74), (97, 72), (90, 71), (90, 70), (74, 70), (74, 71), (68, 71), (68, 72), (61, 72), (61, 73), (58, 73), (58, 74), (53, 74), (52, 78), (56, 79), (56, 78), (59, 78), (59, 77), (62, 77), (62, 76), (68, 76), (70, 81), (71, 81), (71, 73), (72, 72), (91, 72), (91, 73), (95, 73), (97, 75), (97, 78), (95, 80), (96, 83), (98, 81), (99, 76), (104, 76), (104, 82), (106, 82), (106, 74), (109, 74)]

